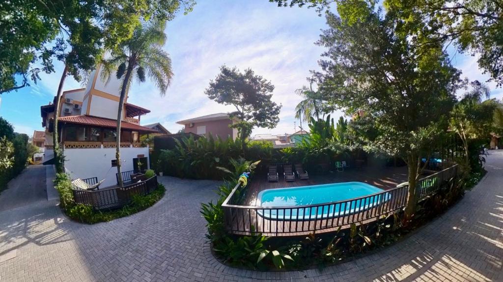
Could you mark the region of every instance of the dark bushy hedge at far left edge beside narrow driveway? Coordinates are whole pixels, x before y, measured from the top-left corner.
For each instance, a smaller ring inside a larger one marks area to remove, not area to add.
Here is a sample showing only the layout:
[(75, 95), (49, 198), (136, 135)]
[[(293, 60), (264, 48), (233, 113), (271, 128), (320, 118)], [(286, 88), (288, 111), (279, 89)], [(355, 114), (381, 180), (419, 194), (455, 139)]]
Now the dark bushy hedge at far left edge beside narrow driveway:
[(0, 117), (0, 192), (26, 168), (30, 146), (28, 135), (15, 133), (12, 125)]

